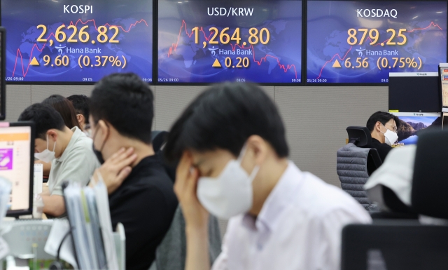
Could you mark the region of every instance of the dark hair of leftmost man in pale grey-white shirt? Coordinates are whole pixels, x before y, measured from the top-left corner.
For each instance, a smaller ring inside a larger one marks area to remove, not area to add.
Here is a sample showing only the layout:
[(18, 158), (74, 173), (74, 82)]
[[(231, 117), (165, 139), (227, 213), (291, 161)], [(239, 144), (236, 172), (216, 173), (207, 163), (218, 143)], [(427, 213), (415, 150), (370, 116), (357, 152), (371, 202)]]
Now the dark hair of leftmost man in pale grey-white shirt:
[(65, 128), (64, 120), (55, 108), (45, 104), (36, 103), (27, 107), (19, 116), (19, 121), (33, 121), (36, 125), (34, 136), (47, 140), (45, 134), (50, 129), (63, 131)]

